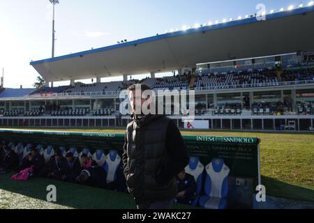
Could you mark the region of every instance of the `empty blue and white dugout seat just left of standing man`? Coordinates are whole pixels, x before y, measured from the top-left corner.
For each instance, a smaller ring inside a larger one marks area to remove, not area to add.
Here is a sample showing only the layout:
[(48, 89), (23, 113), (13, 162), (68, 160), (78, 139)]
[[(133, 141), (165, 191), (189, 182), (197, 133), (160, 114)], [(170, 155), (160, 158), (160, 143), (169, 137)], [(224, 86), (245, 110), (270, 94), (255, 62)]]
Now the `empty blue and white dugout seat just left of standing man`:
[(107, 183), (112, 183), (117, 180), (117, 169), (119, 168), (121, 157), (118, 151), (112, 150), (107, 154), (105, 162), (105, 171), (107, 173)]

